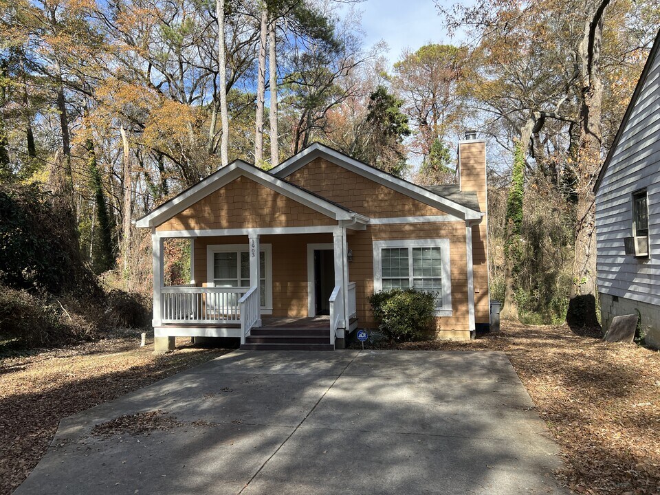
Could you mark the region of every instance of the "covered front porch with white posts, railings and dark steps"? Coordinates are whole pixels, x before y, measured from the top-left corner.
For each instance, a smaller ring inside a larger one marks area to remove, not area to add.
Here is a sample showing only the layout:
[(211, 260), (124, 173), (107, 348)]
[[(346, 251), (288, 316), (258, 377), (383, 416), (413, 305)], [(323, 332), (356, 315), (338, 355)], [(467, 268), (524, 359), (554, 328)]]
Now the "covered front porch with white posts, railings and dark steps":
[(240, 338), (254, 350), (335, 349), (358, 325), (341, 230), (188, 237), (191, 283), (175, 286), (162, 283), (164, 239), (153, 245), (159, 350), (181, 336)]

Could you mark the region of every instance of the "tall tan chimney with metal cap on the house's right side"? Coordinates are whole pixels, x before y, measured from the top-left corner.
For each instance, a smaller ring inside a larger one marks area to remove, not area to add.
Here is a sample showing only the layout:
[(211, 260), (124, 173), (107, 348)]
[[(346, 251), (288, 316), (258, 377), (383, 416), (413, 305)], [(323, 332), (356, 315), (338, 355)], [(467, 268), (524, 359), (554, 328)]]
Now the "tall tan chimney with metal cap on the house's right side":
[(476, 330), (490, 323), (488, 293), (488, 193), (486, 186), (486, 142), (477, 139), (476, 131), (466, 131), (459, 142), (459, 188), (461, 192), (476, 192), (481, 223), (472, 226), (472, 265), (474, 277), (474, 322)]

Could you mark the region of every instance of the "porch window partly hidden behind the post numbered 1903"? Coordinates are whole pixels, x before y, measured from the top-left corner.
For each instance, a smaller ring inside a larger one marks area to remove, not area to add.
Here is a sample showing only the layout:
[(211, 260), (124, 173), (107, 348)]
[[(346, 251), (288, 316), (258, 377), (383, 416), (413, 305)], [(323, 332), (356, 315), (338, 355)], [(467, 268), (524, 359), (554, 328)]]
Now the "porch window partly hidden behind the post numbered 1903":
[[(214, 244), (206, 247), (206, 281), (214, 287), (250, 287), (248, 244)], [(261, 309), (273, 309), (272, 245), (261, 244), (259, 252)]]

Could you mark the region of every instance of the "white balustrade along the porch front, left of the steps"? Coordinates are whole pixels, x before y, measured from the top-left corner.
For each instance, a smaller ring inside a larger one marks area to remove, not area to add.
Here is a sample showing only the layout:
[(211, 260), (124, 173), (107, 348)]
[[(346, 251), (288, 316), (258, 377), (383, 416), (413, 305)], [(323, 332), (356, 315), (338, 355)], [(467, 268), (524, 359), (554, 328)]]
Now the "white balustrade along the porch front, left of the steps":
[(239, 323), (239, 300), (248, 287), (194, 287), (161, 289), (163, 323)]

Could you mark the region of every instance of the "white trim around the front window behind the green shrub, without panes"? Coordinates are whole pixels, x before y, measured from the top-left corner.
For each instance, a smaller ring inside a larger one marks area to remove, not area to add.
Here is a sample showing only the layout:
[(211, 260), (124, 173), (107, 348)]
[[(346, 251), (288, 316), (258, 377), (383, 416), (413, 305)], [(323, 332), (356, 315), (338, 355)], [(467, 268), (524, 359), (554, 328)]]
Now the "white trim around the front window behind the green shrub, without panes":
[[(373, 290), (383, 289), (382, 252), (383, 248), (440, 248), (442, 257), (442, 307), (437, 308), (435, 316), (452, 316), (452, 269), (450, 263), (449, 239), (408, 239), (401, 241), (373, 242)], [(412, 264), (412, 256), (408, 256)], [(412, 277), (412, 267), (409, 276)]]

